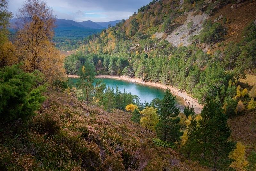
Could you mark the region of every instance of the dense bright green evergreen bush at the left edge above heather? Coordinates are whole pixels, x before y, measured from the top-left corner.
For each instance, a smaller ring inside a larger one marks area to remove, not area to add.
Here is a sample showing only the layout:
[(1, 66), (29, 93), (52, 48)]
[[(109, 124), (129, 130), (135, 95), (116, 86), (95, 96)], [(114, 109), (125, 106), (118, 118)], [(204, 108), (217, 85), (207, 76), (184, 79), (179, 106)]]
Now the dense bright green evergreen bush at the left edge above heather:
[(34, 111), (45, 100), (42, 92), (48, 85), (38, 86), (37, 82), (42, 81), (42, 74), (38, 71), (25, 73), (20, 65), (0, 69), (0, 115), (4, 122), (36, 115)]

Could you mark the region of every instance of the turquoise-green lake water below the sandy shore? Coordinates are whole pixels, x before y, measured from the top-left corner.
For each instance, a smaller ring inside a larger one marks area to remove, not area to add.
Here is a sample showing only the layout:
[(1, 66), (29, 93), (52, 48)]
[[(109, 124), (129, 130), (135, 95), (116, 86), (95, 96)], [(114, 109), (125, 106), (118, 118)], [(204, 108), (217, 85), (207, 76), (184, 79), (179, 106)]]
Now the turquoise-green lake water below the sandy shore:
[[(78, 78), (70, 78), (70, 80), (74, 83), (77, 82)], [(144, 103), (144, 100), (147, 102), (151, 102), (154, 98), (162, 99), (164, 97), (164, 89), (160, 89), (153, 86), (148, 85), (142, 85), (138, 83), (132, 83), (128, 81), (123, 80), (116, 80), (116, 79), (110, 79), (110, 78), (96, 78), (95, 82), (97, 80), (103, 80), (103, 82), (106, 83), (106, 87), (114, 87), (116, 89), (116, 85), (118, 86), (118, 89), (123, 93), (124, 89), (126, 92), (130, 92), (132, 95), (137, 95), (140, 97), (140, 102)], [(176, 106), (178, 106), (181, 110), (184, 109), (184, 101), (181, 97), (176, 96)]]

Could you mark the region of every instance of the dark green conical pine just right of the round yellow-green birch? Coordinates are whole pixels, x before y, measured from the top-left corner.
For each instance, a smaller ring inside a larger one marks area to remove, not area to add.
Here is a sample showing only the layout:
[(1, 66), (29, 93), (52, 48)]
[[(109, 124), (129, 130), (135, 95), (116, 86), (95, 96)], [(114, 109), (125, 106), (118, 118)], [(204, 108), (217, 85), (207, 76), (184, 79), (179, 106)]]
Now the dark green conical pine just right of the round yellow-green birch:
[(159, 122), (156, 125), (156, 133), (161, 140), (174, 143), (182, 136), (180, 117), (177, 117), (179, 113), (180, 109), (175, 106), (175, 96), (167, 89), (161, 102)]

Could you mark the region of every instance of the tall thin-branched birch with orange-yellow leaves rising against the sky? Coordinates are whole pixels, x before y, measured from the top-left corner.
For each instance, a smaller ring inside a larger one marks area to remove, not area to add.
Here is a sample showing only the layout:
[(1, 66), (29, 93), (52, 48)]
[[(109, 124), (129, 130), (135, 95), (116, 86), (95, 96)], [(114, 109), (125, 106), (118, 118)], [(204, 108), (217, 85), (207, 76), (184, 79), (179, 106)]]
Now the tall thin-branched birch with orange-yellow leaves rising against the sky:
[(49, 81), (63, 75), (63, 59), (54, 44), (55, 16), (53, 10), (40, 0), (26, 0), (16, 20), (16, 56), (24, 70), (39, 70)]

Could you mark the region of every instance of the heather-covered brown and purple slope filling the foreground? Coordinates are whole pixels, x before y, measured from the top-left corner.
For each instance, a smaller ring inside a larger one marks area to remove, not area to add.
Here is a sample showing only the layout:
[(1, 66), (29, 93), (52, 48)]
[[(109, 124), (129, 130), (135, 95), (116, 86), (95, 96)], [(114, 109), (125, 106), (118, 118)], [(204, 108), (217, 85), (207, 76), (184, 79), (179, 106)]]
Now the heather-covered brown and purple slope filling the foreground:
[(0, 130), (1, 170), (208, 170), (154, 144), (156, 134), (133, 123), (130, 113), (107, 113), (51, 90), (46, 95), (28, 123)]

